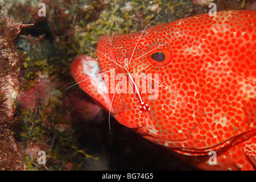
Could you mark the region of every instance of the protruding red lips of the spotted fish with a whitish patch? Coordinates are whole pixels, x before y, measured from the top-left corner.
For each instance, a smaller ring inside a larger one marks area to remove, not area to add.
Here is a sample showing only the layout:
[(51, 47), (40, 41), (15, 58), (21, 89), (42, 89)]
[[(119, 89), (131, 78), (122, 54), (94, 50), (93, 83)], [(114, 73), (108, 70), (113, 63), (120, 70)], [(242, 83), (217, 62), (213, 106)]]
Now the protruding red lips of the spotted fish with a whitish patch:
[(82, 90), (98, 105), (113, 113), (101, 65), (90, 56), (79, 55), (71, 63), (71, 75)]

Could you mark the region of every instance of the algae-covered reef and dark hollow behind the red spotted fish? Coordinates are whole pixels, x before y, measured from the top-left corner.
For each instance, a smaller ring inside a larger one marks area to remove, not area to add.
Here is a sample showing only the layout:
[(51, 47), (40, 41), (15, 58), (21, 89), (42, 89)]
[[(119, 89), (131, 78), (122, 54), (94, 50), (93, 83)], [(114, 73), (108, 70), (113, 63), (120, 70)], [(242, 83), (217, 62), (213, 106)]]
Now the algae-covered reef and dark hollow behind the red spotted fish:
[[(102, 35), (142, 31), (155, 19), (158, 20), (151, 26), (207, 13), (210, 2), (216, 3), (217, 11), (256, 10), (254, 0), (7, 0), (0, 3), (5, 15), (2, 19), (8, 17), (24, 25), (34, 24), (20, 27), (13, 40), (16, 51), (23, 55), (15, 101), (14, 114), (18, 120), (14, 137), (22, 148), (25, 169), (197, 170), (114, 118), (110, 120), (110, 130), (108, 113), (78, 85), (67, 88), (75, 84), (69, 73), (71, 61), (80, 54), (97, 57), (95, 51), (84, 45), (96, 48)], [(38, 15), (39, 3), (46, 5), (46, 16)], [(46, 164), (38, 164), (39, 151), (46, 152)], [(0, 169), (8, 169), (1, 166), (1, 160)]]

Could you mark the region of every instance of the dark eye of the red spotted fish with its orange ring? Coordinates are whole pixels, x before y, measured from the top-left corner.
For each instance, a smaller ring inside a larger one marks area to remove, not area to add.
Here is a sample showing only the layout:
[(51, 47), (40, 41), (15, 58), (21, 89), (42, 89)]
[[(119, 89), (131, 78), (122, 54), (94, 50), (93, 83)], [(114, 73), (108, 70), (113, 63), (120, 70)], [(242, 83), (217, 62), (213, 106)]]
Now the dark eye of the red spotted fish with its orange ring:
[(155, 49), (147, 54), (148, 61), (156, 67), (163, 67), (170, 64), (172, 57), (172, 51), (170, 49)]

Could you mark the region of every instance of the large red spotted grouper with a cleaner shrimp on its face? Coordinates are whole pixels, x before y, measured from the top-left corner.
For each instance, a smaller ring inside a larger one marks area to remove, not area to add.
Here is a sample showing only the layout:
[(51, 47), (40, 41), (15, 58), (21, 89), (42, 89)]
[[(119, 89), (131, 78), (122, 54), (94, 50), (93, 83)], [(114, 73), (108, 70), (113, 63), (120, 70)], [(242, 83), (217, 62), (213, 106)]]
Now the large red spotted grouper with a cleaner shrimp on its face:
[(101, 36), (71, 75), (122, 125), (205, 170), (256, 169), (256, 11)]

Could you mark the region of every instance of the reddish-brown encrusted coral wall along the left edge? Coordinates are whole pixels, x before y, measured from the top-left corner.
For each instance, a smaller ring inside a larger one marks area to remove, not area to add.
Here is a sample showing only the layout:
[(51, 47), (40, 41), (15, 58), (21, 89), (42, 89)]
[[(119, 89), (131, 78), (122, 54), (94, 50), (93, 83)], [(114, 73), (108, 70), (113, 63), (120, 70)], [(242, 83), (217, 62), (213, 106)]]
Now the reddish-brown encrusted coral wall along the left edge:
[(0, 15), (0, 169), (26, 170), (20, 143), (14, 138), (16, 96), (24, 57), (14, 47), (20, 24)]

